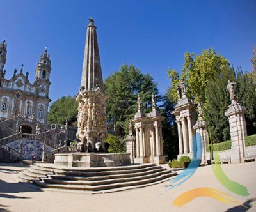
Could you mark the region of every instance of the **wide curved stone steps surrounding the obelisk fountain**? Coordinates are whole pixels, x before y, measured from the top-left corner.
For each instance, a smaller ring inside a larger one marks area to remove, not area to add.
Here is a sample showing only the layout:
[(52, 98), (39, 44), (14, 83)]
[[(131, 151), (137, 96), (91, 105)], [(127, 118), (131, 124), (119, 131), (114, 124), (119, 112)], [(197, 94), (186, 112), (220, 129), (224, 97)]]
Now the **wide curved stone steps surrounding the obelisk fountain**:
[(19, 178), (43, 188), (109, 193), (161, 183), (177, 173), (154, 164), (123, 167), (56, 167), (38, 164), (19, 174)]

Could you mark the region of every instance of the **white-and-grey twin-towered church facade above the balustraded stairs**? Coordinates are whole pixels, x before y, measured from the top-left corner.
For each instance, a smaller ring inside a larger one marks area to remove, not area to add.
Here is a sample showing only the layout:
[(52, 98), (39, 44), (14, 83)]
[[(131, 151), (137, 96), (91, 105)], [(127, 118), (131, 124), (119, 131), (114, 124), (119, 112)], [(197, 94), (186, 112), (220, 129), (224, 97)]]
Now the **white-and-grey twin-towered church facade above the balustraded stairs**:
[(0, 43), (0, 119), (21, 116), (47, 122), (51, 60), (45, 49), (36, 67), (35, 81), (30, 82), (29, 73), (15, 69), (11, 79), (6, 79), (4, 65), (7, 59), (6, 41)]

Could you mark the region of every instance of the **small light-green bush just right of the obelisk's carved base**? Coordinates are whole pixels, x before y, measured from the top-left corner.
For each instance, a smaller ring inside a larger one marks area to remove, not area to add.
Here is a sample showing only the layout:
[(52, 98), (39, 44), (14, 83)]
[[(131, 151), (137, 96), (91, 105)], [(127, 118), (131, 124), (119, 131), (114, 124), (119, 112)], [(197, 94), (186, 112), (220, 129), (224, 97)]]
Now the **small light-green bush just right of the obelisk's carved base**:
[(125, 153), (126, 151), (125, 141), (123, 139), (118, 139), (118, 137), (114, 135), (109, 134), (105, 139), (105, 142), (110, 145), (108, 148), (109, 153)]

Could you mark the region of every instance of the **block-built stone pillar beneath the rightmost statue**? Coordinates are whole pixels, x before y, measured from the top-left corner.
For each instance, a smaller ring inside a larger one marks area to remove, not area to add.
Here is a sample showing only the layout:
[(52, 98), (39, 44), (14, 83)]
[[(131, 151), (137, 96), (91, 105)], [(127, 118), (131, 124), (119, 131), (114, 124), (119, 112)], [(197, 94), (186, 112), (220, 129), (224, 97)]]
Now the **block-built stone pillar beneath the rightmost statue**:
[(244, 113), (246, 108), (232, 101), (225, 116), (228, 117), (231, 136), (231, 163), (243, 163), (245, 156), (245, 137), (247, 135)]

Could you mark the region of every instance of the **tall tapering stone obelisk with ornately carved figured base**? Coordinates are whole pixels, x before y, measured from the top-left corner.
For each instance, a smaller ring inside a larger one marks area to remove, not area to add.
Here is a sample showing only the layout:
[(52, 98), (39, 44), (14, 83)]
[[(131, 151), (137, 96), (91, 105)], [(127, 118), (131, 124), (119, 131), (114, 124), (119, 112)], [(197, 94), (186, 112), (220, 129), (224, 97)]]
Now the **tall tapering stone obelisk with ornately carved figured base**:
[(108, 98), (104, 92), (100, 54), (96, 27), (89, 19), (84, 50), (81, 86), (76, 96), (78, 104), (77, 138), (81, 140), (77, 151), (103, 152), (107, 136), (106, 105)]

